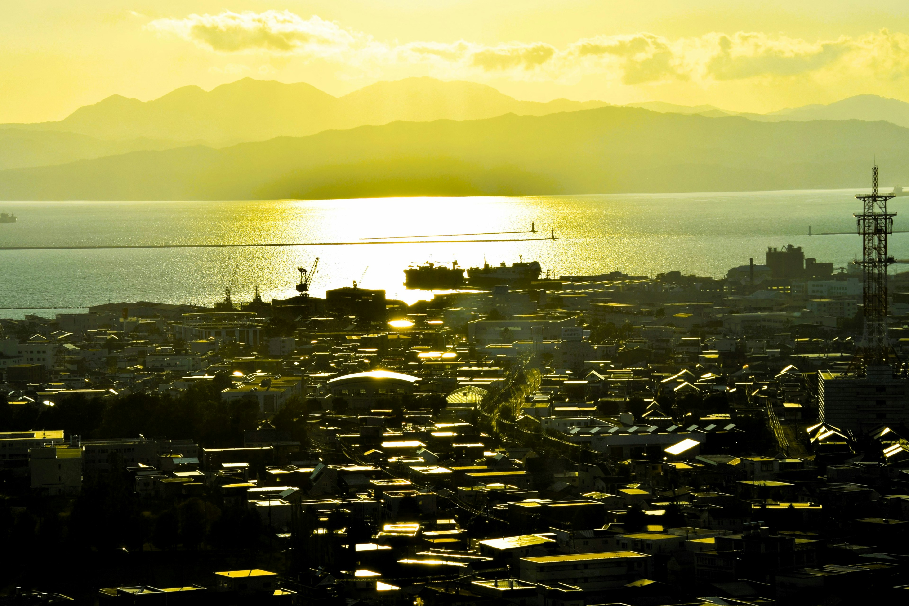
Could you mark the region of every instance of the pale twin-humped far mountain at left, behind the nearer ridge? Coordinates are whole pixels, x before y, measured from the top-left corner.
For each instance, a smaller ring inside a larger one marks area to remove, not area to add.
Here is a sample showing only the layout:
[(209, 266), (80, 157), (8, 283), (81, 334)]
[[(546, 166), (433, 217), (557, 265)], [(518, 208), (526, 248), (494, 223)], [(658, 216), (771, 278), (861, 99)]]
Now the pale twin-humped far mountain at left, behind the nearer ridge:
[(553, 114), (603, 105), (564, 99), (545, 104), (518, 101), (484, 84), (426, 77), (372, 84), (340, 98), (310, 84), (244, 78), (209, 92), (198, 86), (184, 86), (148, 102), (115, 94), (80, 107), (59, 122), (15, 126), (102, 139), (147, 137), (222, 145), (395, 120), (475, 120), (508, 113)]

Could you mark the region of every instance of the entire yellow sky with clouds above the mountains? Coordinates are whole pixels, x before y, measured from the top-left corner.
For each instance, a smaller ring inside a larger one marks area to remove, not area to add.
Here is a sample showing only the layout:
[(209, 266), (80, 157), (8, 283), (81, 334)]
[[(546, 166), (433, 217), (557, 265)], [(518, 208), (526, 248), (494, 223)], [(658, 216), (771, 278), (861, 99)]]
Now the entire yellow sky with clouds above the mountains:
[(6, 0), (0, 10), (0, 123), (246, 76), (341, 95), (430, 75), (532, 101), (758, 113), (854, 94), (909, 101), (905, 0)]

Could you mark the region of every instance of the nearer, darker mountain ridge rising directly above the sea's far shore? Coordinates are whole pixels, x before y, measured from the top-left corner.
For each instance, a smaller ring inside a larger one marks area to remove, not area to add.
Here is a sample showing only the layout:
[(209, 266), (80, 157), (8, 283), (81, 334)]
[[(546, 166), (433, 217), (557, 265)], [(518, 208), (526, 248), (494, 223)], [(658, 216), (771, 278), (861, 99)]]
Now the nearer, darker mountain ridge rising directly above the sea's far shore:
[(395, 122), (0, 172), (0, 198), (248, 199), (860, 187), (909, 183), (909, 129), (629, 107)]

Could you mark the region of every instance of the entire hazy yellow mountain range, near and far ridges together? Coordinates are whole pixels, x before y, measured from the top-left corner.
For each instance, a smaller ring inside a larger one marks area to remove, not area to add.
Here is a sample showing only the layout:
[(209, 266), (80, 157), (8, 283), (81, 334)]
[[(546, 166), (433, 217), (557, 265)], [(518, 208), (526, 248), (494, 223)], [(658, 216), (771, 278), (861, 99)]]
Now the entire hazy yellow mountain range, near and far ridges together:
[(535, 103), (433, 78), (342, 97), (245, 78), (148, 102), (114, 95), (58, 122), (0, 124), (0, 198), (852, 187), (874, 154), (889, 164), (888, 180), (906, 183), (903, 127), (909, 104), (875, 95), (740, 114)]

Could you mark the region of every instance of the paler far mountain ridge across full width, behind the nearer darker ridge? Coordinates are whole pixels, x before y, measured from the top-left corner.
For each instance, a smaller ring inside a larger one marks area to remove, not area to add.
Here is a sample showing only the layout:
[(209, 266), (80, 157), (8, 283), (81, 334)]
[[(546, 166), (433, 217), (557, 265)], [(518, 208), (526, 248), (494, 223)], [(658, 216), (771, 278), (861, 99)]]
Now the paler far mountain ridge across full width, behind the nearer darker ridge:
[[(342, 97), (305, 83), (244, 78), (211, 91), (184, 86), (148, 102), (112, 95), (80, 107), (58, 122), (0, 124), (0, 170), (187, 145), (224, 147), (397, 121), (474, 121), (505, 114), (543, 116), (603, 107), (615, 106), (566, 99), (519, 101), (484, 84), (428, 77), (379, 82)], [(909, 127), (909, 104), (871, 94), (771, 114), (739, 114), (714, 105), (656, 101), (625, 107), (709, 118), (739, 116), (753, 122), (883, 120)]]

